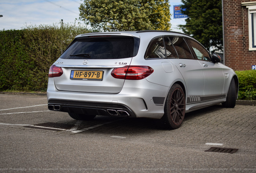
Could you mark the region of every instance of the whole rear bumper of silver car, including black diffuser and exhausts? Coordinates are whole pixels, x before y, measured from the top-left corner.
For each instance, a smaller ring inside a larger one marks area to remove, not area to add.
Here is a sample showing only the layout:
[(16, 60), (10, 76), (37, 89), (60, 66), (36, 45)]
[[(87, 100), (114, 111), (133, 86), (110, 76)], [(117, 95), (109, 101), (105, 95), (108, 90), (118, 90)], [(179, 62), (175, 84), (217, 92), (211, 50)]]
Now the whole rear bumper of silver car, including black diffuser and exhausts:
[(155, 97), (165, 98), (168, 87), (130, 80), (120, 93), (86, 93), (59, 91), (54, 80), (49, 78), (47, 87), (48, 108), (53, 111), (74, 112), (92, 115), (114, 115), (161, 119), (164, 100), (159, 104)]

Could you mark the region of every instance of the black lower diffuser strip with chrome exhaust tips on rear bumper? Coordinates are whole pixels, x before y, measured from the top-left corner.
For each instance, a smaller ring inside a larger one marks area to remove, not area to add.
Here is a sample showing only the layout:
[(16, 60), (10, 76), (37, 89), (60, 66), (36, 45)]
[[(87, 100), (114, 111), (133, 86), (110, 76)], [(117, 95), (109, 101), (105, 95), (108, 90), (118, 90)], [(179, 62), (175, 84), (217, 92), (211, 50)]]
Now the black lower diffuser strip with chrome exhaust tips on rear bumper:
[(71, 112), (85, 115), (111, 115), (136, 117), (135, 113), (125, 105), (83, 102), (83, 101), (66, 101), (66, 100), (49, 100), (48, 109), (52, 111)]

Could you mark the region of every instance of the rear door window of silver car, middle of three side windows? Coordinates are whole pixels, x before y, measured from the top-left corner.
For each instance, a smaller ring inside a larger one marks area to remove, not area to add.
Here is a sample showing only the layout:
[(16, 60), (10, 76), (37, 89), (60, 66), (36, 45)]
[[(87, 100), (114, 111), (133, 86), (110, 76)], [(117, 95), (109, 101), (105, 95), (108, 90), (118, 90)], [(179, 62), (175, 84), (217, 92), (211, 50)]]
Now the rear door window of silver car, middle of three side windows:
[(175, 47), (179, 58), (193, 59), (188, 44), (182, 37), (169, 37)]

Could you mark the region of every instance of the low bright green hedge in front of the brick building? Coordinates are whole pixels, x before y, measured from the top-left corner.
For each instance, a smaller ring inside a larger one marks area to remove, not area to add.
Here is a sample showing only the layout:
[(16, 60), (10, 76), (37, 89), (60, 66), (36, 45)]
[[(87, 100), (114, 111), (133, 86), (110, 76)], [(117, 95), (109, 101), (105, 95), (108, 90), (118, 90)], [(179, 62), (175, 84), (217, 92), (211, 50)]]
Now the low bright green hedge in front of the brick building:
[(239, 100), (256, 100), (256, 70), (236, 71), (239, 79)]

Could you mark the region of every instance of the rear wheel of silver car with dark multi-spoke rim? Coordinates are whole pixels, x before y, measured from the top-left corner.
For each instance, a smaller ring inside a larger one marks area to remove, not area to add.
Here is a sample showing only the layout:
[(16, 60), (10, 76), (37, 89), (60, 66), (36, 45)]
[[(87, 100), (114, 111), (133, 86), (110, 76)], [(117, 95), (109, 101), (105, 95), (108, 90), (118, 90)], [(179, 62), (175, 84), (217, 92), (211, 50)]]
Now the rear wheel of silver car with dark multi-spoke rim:
[(184, 120), (186, 110), (186, 99), (182, 87), (174, 84), (165, 101), (164, 115), (162, 121), (168, 129), (178, 129)]

